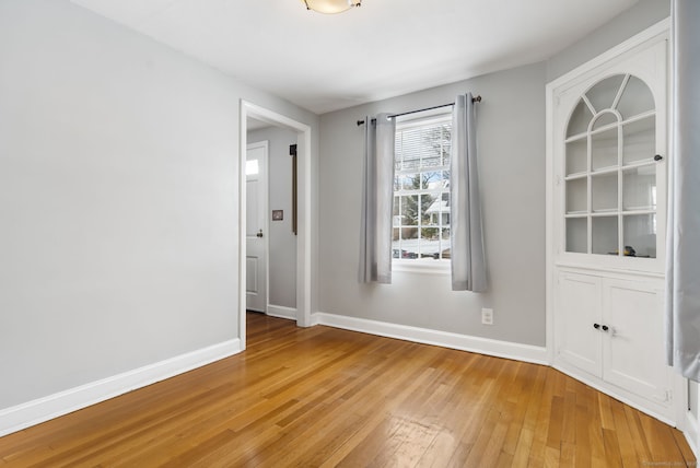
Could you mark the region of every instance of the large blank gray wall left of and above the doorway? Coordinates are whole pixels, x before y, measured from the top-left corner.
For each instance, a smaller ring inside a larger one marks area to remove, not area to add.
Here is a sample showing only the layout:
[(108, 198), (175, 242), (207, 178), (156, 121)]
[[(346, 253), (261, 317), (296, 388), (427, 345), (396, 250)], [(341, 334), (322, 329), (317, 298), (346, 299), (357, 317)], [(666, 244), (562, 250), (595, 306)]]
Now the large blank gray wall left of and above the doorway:
[(0, 63), (0, 409), (236, 338), (240, 100), (318, 118), (67, 0)]

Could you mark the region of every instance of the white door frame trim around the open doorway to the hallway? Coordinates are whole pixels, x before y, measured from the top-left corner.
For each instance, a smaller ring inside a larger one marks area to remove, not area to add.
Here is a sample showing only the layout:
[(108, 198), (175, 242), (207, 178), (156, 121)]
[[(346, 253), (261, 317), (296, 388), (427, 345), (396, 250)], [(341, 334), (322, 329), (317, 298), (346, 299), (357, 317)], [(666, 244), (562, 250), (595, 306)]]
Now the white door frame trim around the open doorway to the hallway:
[(298, 145), (298, 237), (296, 237), (296, 325), (310, 327), (311, 323), (311, 127), (273, 110), (241, 100), (238, 149), (238, 339), (246, 349), (246, 176), (248, 117), (296, 132)]

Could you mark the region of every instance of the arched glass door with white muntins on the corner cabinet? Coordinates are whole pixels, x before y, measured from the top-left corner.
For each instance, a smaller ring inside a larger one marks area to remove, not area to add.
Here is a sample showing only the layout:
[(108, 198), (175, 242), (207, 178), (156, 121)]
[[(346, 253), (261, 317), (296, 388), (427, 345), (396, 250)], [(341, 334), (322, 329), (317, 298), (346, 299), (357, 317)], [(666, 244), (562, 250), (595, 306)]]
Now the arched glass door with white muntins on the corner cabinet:
[(656, 107), (649, 86), (614, 74), (578, 101), (564, 139), (568, 253), (656, 258)]

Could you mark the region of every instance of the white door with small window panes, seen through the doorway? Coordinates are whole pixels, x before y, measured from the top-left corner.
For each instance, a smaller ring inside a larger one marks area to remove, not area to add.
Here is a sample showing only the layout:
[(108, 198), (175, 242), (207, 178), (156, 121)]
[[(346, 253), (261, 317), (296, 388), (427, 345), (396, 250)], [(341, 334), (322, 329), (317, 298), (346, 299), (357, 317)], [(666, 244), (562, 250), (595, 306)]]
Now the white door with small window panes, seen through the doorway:
[(267, 141), (246, 153), (246, 308), (267, 312)]

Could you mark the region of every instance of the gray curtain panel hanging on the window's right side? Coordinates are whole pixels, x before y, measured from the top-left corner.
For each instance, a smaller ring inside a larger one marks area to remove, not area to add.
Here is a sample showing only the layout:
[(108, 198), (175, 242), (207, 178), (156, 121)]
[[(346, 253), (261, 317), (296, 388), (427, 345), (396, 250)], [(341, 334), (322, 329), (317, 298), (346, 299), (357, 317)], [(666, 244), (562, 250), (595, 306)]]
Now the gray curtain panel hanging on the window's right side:
[(452, 114), (450, 203), (452, 290), (486, 291), (476, 115), (471, 93), (457, 96)]

